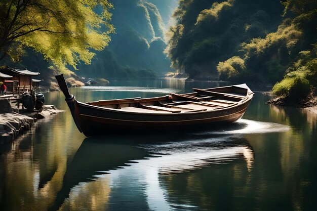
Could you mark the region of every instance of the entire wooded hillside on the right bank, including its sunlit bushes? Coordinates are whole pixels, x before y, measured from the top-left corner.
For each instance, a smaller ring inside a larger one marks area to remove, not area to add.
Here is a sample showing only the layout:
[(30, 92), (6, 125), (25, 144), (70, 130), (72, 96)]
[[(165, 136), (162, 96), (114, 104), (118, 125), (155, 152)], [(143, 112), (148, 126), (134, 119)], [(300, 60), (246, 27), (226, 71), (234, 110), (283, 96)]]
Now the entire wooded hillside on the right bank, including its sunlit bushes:
[(316, 87), (317, 2), (182, 0), (168, 53), (191, 78), (274, 85), (299, 101)]

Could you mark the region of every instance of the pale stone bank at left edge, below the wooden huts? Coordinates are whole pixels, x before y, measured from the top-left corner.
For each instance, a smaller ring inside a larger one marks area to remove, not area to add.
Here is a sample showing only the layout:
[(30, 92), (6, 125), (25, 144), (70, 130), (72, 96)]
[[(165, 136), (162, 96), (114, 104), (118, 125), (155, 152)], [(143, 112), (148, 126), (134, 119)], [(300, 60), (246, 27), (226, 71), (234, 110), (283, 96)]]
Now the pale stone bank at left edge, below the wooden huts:
[[(52, 105), (45, 105), (42, 112), (23, 112), (7, 99), (0, 100), (0, 144), (9, 143), (30, 130), (37, 119), (60, 112)], [(1, 147), (1, 145), (0, 145)]]

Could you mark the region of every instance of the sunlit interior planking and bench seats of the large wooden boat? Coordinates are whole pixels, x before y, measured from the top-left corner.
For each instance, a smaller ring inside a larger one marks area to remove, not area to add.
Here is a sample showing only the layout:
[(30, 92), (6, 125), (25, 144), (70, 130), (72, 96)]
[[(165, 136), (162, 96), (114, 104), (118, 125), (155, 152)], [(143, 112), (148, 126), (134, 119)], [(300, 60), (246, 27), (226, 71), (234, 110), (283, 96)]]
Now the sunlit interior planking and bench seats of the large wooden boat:
[[(118, 109), (127, 112), (142, 113), (187, 113), (210, 111), (235, 105), (237, 102), (247, 99), (243, 94), (218, 93), (194, 89), (197, 92), (186, 94), (167, 95), (156, 98), (128, 98), (120, 100), (99, 100), (87, 102), (87, 104), (104, 108)], [(202, 95), (204, 93), (207, 95)], [(209, 96), (208, 96), (209, 95)], [(215, 96), (211, 96), (215, 95)], [(186, 101), (173, 101), (173, 99), (183, 99)]]

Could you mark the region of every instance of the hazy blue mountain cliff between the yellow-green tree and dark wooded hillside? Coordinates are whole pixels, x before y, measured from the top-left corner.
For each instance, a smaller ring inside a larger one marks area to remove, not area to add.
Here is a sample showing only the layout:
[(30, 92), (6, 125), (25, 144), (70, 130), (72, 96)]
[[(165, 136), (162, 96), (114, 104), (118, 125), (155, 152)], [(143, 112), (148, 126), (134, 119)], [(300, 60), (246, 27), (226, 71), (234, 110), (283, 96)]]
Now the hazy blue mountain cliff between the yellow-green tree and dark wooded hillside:
[(160, 11), (173, 10), (176, 2), (113, 0), (111, 22), (116, 33), (111, 35), (109, 46), (97, 52), (92, 64), (80, 65), (81, 71), (76, 73), (120, 79), (162, 76), (171, 71), (164, 49), (167, 20), (172, 13), (162, 16)]

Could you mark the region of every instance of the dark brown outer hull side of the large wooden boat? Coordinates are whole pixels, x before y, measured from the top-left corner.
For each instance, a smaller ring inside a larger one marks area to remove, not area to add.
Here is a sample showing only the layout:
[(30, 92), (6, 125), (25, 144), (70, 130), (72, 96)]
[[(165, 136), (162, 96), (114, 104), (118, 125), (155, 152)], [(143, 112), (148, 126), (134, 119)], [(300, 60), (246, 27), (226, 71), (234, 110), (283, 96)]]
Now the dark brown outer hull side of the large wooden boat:
[(250, 101), (230, 109), (177, 114), (144, 114), (113, 111), (72, 101), (74, 119), (85, 136), (118, 132), (153, 132), (175, 130), (206, 130), (240, 119)]

